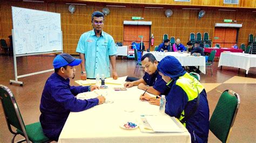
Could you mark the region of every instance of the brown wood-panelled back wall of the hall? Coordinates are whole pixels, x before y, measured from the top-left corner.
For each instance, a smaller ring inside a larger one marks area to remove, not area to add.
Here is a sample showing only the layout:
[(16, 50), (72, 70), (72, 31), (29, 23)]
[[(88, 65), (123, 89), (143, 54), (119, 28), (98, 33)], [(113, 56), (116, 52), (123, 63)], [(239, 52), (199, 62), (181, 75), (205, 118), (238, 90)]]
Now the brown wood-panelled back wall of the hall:
[[(102, 11), (105, 5), (87, 4), (76, 5), (75, 13), (68, 11), (69, 5), (63, 3), (32, 3), (32, 2), (1, 2), (0, 4), (0, 38), (7, 39), (11, 35), (12, 18), (11, 6), (44, 10), (61, 13), (64, 52), (77, 54), (76, 47), (82, 33), (92, 30), (91, 13)], [(206, 15), (198, 19), (199, 10), (183, 10), (171, 8), (173, 15), (165, 17), (166, 9), (146, 9), (142, 7), (126, 6), (126, 8), (108, 7), (110, 14), (105, 17), (104, 31), (111, 34), (115, 42), (123, 41), (123, 21), (131, 20), (132, 16), (144, 17), (144, 21), (151, 21), (151, 33), (154, 34), (155, 45), (163, 40), (163, 34), (179, 38), (183, 44), (189, 40), (191, 32), (208, 32), (213, 38), (215, 23), (223, 23), (223, 19), (237, 20), (242, 23), (239, 30), (238, 44), (248, 43), (250, 33), (256, 35), (256, 12), (252, 10), (219, 11), (218, 9), (204, 9)], [(153, 50), (153, 47), (151, 47)]]

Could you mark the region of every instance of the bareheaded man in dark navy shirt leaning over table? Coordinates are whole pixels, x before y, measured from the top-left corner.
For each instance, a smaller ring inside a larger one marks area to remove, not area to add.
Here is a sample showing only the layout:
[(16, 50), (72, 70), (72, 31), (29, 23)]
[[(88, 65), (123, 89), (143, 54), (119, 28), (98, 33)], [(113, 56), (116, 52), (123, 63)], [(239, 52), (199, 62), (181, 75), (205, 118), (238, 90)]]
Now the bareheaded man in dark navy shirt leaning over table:
[(158, 61), (154, 55), (146, 53), (142, 56), (142, 67), (146, 71), (145, 75), (137, 81), (124, 83), (124, 87), (130, 88), (138, 85), (139, 89), (147, 90), (147, 92), (150, 92), (153, 95), (166, 95), (170, 89), (166, 86), (166, 82), (159, 75), (157, 65)]

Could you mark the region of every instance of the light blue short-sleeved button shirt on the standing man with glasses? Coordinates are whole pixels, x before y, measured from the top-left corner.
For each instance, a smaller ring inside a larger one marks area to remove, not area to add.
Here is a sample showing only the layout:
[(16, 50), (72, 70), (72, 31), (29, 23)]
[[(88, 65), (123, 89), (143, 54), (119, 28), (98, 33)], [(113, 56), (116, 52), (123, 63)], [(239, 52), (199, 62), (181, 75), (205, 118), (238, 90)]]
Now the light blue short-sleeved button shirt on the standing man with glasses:
[(78, 41), (76, 52), (85, 54), (88, 78), (95, 78), (96, 74), (110, 77), (109, 56), (117, 54), (114, 39), (110, 34), (102, 31), (102, 35), (97, 37), (94, 30), (83, 33)]

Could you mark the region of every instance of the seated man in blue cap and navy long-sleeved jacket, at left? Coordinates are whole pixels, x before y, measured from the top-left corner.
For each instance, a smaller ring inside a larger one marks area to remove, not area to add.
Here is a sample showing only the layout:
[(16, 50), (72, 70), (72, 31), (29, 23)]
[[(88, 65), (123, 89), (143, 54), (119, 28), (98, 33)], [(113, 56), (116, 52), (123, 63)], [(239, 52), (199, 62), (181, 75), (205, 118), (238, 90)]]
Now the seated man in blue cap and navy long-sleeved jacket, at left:
[(46, 137), (58, 141), (60, 132), (70, 112), (79, 112), (105, 102), (105, 97), (77, 99), (82, 92), (98, 89), (96, 85), (75, 87), (69, 85), (69, 78), (75, 77), (75, 67), (82, 62), (71, 55), (63, 53), (53, 60), (53, 73), (44, 85), (40, 104), (40, 123)]

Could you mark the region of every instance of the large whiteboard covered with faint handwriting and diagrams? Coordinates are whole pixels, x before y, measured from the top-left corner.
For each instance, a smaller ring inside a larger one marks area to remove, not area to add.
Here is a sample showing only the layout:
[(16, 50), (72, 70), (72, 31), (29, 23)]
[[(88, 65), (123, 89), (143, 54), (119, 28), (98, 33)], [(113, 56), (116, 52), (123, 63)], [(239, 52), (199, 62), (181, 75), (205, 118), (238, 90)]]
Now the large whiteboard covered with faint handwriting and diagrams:
[(60, 13), (12, 6), (16, 55), (62, 51)]

